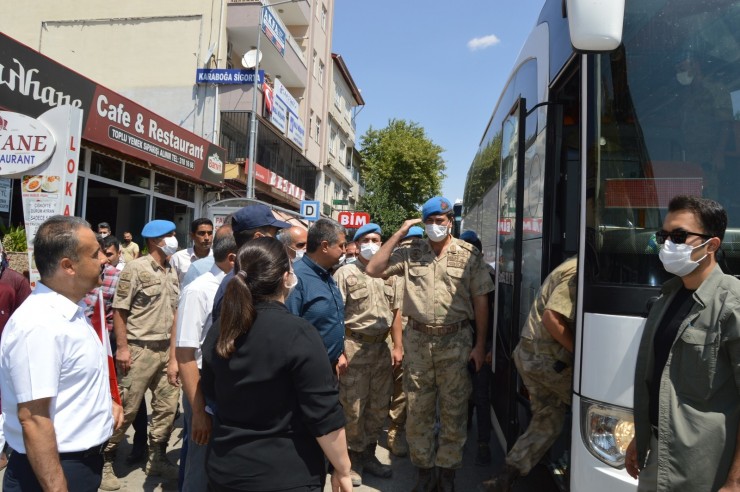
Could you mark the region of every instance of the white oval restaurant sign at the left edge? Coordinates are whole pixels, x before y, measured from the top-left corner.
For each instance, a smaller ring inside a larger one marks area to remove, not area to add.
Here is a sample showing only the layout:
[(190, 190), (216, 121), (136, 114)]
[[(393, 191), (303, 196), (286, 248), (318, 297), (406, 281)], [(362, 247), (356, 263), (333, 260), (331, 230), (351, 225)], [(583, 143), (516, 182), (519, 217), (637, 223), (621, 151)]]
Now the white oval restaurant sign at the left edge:
[(39, 120), (0, 111), (0, 176), (40, 166), (51, 157), (55, 146), (54, 135)]

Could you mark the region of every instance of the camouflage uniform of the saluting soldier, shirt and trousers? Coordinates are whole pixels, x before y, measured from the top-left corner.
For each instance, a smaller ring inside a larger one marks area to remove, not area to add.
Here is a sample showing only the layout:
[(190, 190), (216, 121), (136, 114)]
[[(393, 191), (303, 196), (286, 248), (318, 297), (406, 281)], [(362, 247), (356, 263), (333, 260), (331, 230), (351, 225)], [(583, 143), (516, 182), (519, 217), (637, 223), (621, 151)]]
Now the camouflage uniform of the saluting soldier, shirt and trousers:
[[(404, 330), (406, 435), (412, 463), (422, 469), (462, 466), (472, 348), (473, 296), (493, 290), (483, 257), (473, 246), (451, 238), (439, 257), (428, 241), (415, 241), (391, 255), (385, 276), (403, 276), (400, 309)], [(439, 444), (434, 421), (439, 400)]]

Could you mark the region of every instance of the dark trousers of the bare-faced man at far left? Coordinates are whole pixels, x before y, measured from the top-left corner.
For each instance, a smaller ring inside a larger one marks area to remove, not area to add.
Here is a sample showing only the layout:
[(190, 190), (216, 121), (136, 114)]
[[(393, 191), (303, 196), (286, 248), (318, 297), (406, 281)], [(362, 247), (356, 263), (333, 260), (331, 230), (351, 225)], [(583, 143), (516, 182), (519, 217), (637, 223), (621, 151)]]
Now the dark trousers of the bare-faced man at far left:
[[(97, 492), (103, 474), (99, 452), (61, 453), (59, 460), (70, 492)], [(28, 456), (13, 452), (3, 478), (3, 492), (42, 492)]]

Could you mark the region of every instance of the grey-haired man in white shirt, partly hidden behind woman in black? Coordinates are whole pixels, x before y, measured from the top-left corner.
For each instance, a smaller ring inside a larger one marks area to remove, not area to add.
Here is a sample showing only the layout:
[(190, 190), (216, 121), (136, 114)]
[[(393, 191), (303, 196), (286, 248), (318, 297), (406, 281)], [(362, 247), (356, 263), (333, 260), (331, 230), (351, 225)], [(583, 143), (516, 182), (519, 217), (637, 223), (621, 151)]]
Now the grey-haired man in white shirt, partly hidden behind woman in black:
[(179, 316), (175, 356), (185, 392), (182, 400), (185, 429), (190, 437), (187, 447), (183, 446), (180, 453), (181, 469), (182, 464), (185, 464), (180, 483), (182, 492), (201, 492), (208, 488), (205, 462), (212, 422), (199, 385), (202, 367), (200, 346), (212, 324), (211, 310), (216, 291), (226, 273), (234, 268), (236, 252), (231, 225), (221, 226), (213, 242), (213, 267), (188, 284), (180, 295), (177, 308)]

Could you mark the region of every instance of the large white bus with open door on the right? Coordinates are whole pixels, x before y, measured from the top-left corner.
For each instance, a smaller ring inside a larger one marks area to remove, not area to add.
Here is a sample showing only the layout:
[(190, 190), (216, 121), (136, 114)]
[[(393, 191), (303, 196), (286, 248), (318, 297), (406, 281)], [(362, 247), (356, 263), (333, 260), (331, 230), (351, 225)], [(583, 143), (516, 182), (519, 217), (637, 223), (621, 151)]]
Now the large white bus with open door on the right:
[(545, 2), (468, 172), (461, 229), (496, 267), (492, 407), (504, 448), (527, 423), (511, 359), (520, 328), (547, 274), (577, 254), (573, 404), (549, 461), (563, 489), (633, 491), (635, 358), (669, 277), (653, 234), (672, 196), (725, 206), (720, 264), (740, 273), (740, 1), (580, 4)]

